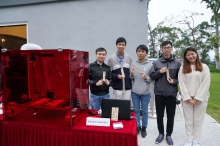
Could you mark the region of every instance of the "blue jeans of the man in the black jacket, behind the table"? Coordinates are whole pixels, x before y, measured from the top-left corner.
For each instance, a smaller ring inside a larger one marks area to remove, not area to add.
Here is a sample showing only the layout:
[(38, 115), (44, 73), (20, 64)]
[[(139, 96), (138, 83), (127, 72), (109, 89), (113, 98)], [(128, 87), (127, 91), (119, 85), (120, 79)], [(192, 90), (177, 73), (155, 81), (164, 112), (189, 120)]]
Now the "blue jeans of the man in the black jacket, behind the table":
[(105, 94), (105, 95), (94, 95), (91, 93), (90, 99), (89, 99), (89, 103), (90, 103), (91, 108), (95, 109), (95, 110), (100, 110), (102, 98), (110, 98), (109, 93)]

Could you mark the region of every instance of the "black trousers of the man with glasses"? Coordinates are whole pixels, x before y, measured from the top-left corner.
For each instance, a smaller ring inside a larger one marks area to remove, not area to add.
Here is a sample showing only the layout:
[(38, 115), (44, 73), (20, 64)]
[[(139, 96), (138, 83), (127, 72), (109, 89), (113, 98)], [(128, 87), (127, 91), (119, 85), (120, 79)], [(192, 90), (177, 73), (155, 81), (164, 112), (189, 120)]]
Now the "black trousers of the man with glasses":
[(176, 97), (155, 95), (156, 113), (157, 113), (157, 128), (160, 134), (164, 135), (164, 110), (167, 113), (166, 132), (168, 136), (173, 133), (174, 116), (176, 111)]

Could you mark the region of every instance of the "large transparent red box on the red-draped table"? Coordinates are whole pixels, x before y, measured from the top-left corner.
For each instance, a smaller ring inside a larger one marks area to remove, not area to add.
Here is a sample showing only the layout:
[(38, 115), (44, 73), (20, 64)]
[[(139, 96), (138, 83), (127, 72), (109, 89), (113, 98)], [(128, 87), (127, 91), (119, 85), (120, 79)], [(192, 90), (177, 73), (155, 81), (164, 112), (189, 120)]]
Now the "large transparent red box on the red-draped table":
[(88, 52), (1, 51), (3, 120), (70, 127), (89, 102)]

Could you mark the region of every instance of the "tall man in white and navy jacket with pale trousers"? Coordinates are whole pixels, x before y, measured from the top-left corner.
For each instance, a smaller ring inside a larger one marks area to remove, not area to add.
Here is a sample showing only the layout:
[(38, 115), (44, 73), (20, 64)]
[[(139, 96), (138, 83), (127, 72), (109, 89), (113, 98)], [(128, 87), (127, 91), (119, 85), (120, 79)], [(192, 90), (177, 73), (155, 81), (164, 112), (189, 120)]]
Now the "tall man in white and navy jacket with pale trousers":
[(131, 99), (132, 83), (130, 79), (130, 67), (132, 58), (124, 52), (126, 40), (120, 37), (116, 40), (117, 52), (108, 59), (108, 65), (112, 71), (112, 88), (115, 98)]

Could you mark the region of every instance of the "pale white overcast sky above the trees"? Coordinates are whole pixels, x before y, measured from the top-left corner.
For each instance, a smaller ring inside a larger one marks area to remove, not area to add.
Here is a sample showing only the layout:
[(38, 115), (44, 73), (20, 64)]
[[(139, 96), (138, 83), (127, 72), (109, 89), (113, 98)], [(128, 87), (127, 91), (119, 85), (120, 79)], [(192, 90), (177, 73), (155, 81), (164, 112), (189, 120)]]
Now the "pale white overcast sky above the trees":
[[(154, 28), (158, 23), (166, 17), (183, 16), (184, 11), (203, 13), (202, 16), (195, 16), (195, 25), (208, 21), (212, 16), (210, 9), (206, 8), (206, 3), (201, 3), (201, 0), (151, 0), (149, 3), (148, 18), (151, 26)], [(178, 24), (177, 24), (178, 25)], [(179, 24), (179, 27), (183, 27)], [(210, 52), (210, 58), (214, 58), (214, 52)]]

